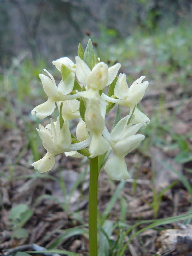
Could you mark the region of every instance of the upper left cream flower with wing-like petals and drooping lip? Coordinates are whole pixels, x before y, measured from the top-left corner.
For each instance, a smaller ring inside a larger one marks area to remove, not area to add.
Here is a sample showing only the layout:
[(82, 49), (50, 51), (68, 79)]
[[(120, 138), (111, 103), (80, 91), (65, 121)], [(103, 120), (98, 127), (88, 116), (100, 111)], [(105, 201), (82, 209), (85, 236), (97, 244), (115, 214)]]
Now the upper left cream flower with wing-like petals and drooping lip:
[(62, 100), (70, 100), (76, 99), (79, 96), (77, 94), (67, 95), (73, 90), (75, 73), (70, 73), (65, 80), (61, 80), (58, 87), (55, 83), (54, 77), (46, 70), (44, 71), (50, 76), (45, 76), (43, 74), (39, 74), (41, 82), (43, 84), (43, 89), (48, 96), (48, 100), (37, 107), (35, 107), (31, 113), (40, 119), (45, 118), (51, 115), (55, 109), (55, 102)]

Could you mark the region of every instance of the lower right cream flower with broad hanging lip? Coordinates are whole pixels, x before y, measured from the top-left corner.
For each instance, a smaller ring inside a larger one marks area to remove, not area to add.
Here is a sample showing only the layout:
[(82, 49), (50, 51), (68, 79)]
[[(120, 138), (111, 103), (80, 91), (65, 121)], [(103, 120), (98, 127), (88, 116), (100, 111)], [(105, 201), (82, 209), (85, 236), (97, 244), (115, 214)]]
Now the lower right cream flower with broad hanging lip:
[[(129, 122), (130, 116), (126, 116), (112, 130), (111, 134), (103, 132), (104, 137), (110, 142), (114, 155), (105, 164), (104, 170), (113, 180), (126, 180), (130, 178), (125, 163), (125, 156), (135, 149), (145, 138), (144, 135), (136, 134), (142, 124)], [(106, 136), (105, 136), (106, 135)]]

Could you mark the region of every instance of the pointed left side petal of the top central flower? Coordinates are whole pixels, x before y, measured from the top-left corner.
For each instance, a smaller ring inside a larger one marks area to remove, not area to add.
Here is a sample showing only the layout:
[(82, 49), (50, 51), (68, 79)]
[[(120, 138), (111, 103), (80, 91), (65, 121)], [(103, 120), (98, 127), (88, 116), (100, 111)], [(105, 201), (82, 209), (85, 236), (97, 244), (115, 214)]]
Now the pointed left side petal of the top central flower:
[(78, 56), (75, 57), (76, 60), (76, 76), (80, 83), (87, 83), (87, 76), (91, 73), (91, 69), (87, 64)]

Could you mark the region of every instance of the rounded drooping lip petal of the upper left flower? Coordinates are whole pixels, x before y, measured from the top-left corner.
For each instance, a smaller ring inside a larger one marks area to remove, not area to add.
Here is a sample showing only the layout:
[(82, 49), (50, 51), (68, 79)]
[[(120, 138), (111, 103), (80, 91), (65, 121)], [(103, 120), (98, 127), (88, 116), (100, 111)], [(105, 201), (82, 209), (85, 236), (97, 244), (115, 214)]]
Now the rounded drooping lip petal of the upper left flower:
[(51, 115), (53, 113), (54, 109), (55, 109), (55, 101), (48, 99), (46, 102), (35, 107), (31, 111), (31, 114), (35, 115), (35, 112), (36, 112), (36, 116), (40, 119), (43, 119), (43, 118)]

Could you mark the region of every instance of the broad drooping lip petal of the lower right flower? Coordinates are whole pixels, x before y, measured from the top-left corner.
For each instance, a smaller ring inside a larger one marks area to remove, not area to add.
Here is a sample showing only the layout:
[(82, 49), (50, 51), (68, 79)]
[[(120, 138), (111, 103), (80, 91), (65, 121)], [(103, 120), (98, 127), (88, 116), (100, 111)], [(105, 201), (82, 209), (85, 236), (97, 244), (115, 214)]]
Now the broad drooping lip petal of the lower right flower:
[(105, 164), (104, 170), (113, 180), (127, 180), (130, 174), (124, 160), (124, 155), (114, 155), (109, 158)]

